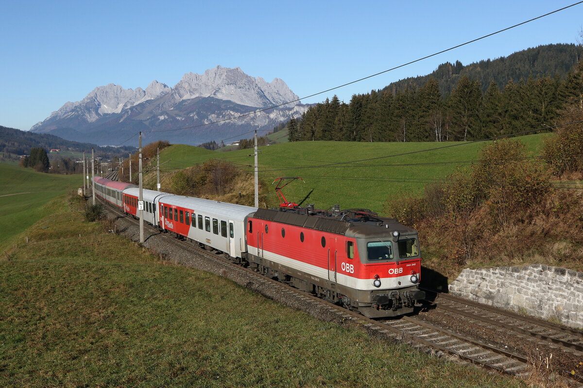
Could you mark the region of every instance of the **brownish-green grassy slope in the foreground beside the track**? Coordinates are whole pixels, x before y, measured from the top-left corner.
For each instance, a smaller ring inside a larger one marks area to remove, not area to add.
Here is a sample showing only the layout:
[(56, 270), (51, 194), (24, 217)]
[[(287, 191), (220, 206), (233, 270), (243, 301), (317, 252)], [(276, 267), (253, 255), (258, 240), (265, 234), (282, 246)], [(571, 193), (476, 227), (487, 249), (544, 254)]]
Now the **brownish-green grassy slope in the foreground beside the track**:
[(54, 198), (0, 258), (0, 386), (523, 386), (161, 262), (78, 201)]

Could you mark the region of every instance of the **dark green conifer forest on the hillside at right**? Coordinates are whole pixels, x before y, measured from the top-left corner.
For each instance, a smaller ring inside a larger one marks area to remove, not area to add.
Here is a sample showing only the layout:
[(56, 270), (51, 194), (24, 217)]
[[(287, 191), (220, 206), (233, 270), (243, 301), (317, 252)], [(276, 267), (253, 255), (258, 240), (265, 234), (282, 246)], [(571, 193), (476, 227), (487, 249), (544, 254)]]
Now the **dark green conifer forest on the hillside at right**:
[(288, 122), (289, 141), (472, 141), (551, 127), (581, 99), (580, 51), (548, 45), (468, 66), (446, 63), (348, 104), (334, 96)]

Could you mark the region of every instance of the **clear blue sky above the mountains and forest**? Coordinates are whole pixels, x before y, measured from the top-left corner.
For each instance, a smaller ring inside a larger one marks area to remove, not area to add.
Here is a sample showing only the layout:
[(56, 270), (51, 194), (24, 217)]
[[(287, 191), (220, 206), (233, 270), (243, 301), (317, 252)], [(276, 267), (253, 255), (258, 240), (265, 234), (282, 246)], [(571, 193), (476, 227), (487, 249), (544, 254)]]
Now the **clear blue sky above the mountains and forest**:
[[(28, 130), (97, 86), (173, 87), (217, 65), (278, 77), (304, 97), (574, 2), (0, 0), (0, 125)], [(577, 42), (582, 24), (583, 4), (302, 102), (348, 102), (443, 62)]]

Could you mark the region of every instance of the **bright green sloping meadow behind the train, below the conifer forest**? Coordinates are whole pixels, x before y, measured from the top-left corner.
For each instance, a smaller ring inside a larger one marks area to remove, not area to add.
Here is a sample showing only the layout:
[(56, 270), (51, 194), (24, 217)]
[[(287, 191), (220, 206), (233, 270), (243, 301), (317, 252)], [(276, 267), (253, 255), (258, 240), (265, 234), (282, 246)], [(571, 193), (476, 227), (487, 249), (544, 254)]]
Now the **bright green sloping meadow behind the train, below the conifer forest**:
[[(549, 134), (521, 136), (529, 154), (538, 155), (539, 146)], [(287, 200), (307, 205), (313, 203), (318, 208), (329, 208), (339, 204), (341, 208), (369, 208), (382, 213), (388, 198), (399, 193), (422, 194), (427, 182), (444, 179), (455, 172), (459, 162), (479, 158), (481, 143), (349, 143), (336, 141), (301, 141), (297, 143), (273, 144), (259, 147), (259, 174), (264, 183), (262, 190), (268, 194), (268, 203), (278, 204), (272, 181), (276, 177), (300, 176), (305, 180), (291, 183), (284, 189)], [(426, 149), (447, 147), (415, 154), (392, 156), (357, 164), (340, 164), (310, 167), (354, 161), (359, 159), (380, 158), (382, 156), (424, 151)], [(252, 165), (252, 149), (231, 152), (216, 152), (189, 145), (171, 145), (161, 152), (160, 160), (166, 169), (180, 169), (203, 163), (210, 158), (228, 162)], [(418, 165), (416, 163), (438, 163)], [(310, 168), (307, 168), (310, 167)], [(243, 167), (245, 168), (245, 167)], [(297, 168), (297, 169), (293, 169)], [(252, 170), (250, 168), (245, 168)], [(171, 173), (166, 177), (168, 183)], [(155, 172), (146, 178), (146, 184), (155, 186)], [(163, 180), (164, 182), (164, 180)], [(166, 186), (168, 187), (168, 186)], [(252, 188), (252, 186), (251, 186)], [(261, 204), (262, 205), (262, 204)]]

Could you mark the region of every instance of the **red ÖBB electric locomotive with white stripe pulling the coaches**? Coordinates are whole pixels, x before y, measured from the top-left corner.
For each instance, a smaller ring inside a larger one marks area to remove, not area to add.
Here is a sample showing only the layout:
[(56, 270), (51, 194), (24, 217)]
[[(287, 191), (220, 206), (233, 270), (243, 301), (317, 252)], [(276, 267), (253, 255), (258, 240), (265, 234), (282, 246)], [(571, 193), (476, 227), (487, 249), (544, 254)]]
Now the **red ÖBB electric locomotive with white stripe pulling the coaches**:
[(258, 272), (370, 318), (412, 312), (425, 297), (416, 230), (368, 209), (258, 209), (246, 240)]

